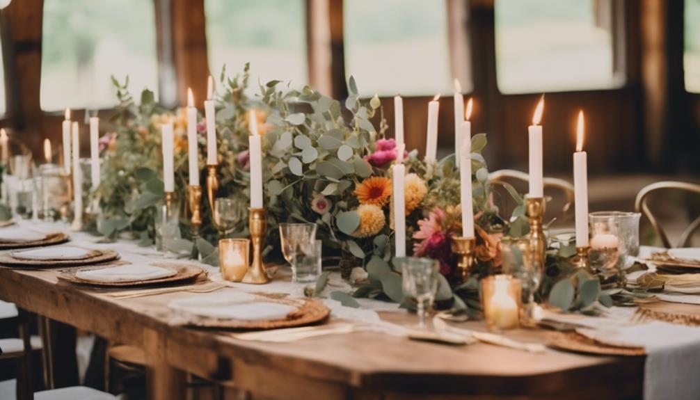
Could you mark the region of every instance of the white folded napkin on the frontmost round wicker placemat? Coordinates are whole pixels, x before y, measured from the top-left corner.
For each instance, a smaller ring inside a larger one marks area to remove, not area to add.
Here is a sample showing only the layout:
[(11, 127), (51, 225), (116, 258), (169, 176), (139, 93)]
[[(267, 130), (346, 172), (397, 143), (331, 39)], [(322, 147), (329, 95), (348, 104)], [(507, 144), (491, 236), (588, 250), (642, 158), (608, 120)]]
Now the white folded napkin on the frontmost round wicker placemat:
[(288, 304), (255, 301), (254, 294), (214, 293), (171, 301), (169, 307), (200, 317), (218, 320), (282, 320), (297, 308)]

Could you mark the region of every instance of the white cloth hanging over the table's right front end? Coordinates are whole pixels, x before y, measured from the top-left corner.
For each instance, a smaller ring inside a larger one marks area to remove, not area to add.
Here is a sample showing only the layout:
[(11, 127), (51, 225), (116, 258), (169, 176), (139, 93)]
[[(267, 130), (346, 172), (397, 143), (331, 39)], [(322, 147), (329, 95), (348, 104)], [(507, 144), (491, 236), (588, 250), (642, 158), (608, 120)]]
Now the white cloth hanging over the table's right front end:
[(700, 328), (653, 321), (577, 332), (601, 343), (645, 348), (645, 400), (698, 398)]

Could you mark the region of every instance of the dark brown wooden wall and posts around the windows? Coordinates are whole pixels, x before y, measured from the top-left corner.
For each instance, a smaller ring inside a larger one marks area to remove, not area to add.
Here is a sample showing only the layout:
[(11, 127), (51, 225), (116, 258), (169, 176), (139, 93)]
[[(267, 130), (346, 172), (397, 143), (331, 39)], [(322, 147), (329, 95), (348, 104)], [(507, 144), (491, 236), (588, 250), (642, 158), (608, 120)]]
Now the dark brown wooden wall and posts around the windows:
[[(153, 1), (156, 10), (164, 9), (163, 3), (168, 5), (165, 9), (169, 15), (159, 15), (157, 20), (162, 24), (164, 18), (169, 18), (172, 41), (158, 43), (172, 45), (177, 102), (186, 102), (187, 87), (193, 87), (196, 99), (202, 99), (209, 73), (204, 0)], [(461, 1), (465, 1), (468, 10), (468, 34), (479, 38), (467, 42), (472, 95), (476, 99), (472, 132), (489, 133), (486, 155), (490, 169), (525, 169), (526, 127), (538, 94), (498, 92), (493, 0)], [(695, 155), (700, 148), (700, 96), (687, 94), (682, 86), (682, 1), (612, 1), (624, 3), (626, 84), (619, 90), (547, 94), (542, 121), (547, 138), (546, 171), (570, 173), (575, 113), (584, 108), (589, 134), (587, 149), (595, 154), (589, 159), (592, 174), (700, 172), (700, 157)], [(13, 1), (0, 12), (9, 102), (8, 117), (0, 125), (15, 129), (36, 152), (41, 151), (44, 137), (57, 143), (62, 120), (61, 115), (43, 113), (39, 106), (42, 6), (42, 0)], [(314, 73), (311, 82), (342, 99), (346, 96), (343, 0), (307, 0), (307, 6), (309, 64)], [(312, 8), (323, 12), (314, 13)], [(324, 24), (328, 29), (323, 28)], [(454, 29), (451, 34), (454, 36)], [(330, 49), (324, 51), (323, 45), (329, 43)], [(429, 99), (412, 97), (404, 103), (407, 147), (421, 152), (425, 148)], [(385, 98), (382, 103), (384, 115), (393, 126), (393, 101)], [(444, 152), (450, 152), (453, 146), (451, 110), (451, 96), (443, 94), (439, 145)], [(109, 110), (102, 112), (107, 113)], [(75, 117), (82, 115), (76, 113)], [(87, 145), (86, 141), (83, 144)]]

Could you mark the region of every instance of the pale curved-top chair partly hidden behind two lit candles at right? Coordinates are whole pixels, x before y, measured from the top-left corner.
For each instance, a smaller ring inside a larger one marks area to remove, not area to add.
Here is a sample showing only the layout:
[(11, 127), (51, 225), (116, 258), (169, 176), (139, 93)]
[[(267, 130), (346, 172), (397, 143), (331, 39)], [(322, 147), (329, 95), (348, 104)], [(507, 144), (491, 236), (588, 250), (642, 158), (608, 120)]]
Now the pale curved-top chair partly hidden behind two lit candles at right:
[[(491, 184), (513, 185), (513, 183), (518, 183), (519, 185), (527, 185), (528, 181), (528, 173), (516, 171), (514, 169), (500, 169), (489, 173), (489, 182)], [(570, 210), (574, 200), (573, 185), (567, 180), (559, 178), (544, 178), (542, 183), (545, 185), (545, 190), (547, 190), (547, 188), (552, 188), (556, 190), (558, 194), (558, 196), (553, 198), (552, 201), (548, 201), (548, 203), (553, 203), (556, 207), (550, 207), (549, 205), (547, 206), (545, 223), (554, 218), (556, 218), (556, 220), (559, 222), (568, 222), (567, 217), (570, 216), (568, 211)], [(551, 194), (551, 191), (548, 192)], [(510, 213), (506, 211), (512, 210), (500, 209), (501, 216), (507, 220), (508, 217), (510, 217)]]

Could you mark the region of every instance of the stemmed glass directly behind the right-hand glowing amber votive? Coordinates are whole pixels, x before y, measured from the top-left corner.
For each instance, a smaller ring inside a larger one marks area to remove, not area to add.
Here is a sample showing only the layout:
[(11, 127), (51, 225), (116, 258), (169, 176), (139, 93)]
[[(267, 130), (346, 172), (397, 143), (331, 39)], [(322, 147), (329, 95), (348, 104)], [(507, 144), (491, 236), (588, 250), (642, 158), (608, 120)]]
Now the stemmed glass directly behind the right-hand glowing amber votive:
[(503, 254), (503, 273), (520, 280), (522, 284), (522, 303), (526, 308), (535, 305), (535, 292), (540, 287), (542, 269), (530, 251), (530, 242), (524, 238), (502, 238), (500, 240)]

